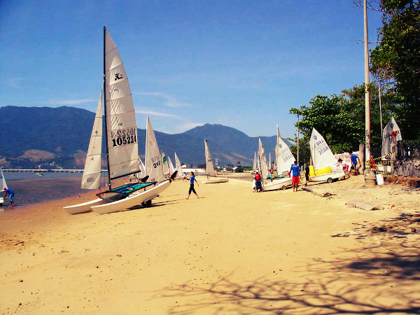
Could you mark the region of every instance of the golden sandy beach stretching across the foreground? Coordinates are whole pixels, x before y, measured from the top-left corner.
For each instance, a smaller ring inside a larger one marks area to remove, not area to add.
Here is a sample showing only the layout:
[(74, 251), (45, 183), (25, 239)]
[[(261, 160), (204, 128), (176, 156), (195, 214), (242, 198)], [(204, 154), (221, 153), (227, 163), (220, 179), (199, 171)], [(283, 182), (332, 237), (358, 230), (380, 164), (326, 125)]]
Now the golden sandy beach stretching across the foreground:
[[(0, 313), (419, 313), (419, 224), (372, 232), (414, 220), (419, 188), (362, 186), (316, 185), (325, 198), (230, 179), (186, 200), (174, 181), (153, 207), (115, 214), (62, 210), (93, 193), (6, 209)], [(364, 189), (384, 210), (345, 207)]]

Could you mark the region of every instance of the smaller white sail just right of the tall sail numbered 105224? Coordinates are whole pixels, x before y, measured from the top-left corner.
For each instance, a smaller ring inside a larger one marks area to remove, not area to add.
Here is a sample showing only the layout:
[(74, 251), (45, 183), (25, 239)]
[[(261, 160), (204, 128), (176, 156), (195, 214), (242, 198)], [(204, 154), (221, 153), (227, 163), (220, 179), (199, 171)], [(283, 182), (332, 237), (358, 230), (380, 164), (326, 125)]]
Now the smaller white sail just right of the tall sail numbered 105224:
[(160, 158), (160, 150), (156, 141), (155, 132), (151, 120), (147, 116), (146, 123), (146, 175), (148, 181), (163, 181), (163, 167)]

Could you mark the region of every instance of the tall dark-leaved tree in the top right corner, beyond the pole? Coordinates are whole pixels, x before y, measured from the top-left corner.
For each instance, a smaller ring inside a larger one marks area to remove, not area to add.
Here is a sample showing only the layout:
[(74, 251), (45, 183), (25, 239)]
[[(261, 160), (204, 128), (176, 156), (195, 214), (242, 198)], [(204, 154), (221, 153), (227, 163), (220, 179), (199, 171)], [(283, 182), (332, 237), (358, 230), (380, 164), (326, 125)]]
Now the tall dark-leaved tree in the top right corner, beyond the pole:
[(371, 51), (370, 69), (377, 80), (395, 87), (395, 109), (405, 139), (420, 134), (420, 3), (418, 0), (381, 0), (381, 43)]

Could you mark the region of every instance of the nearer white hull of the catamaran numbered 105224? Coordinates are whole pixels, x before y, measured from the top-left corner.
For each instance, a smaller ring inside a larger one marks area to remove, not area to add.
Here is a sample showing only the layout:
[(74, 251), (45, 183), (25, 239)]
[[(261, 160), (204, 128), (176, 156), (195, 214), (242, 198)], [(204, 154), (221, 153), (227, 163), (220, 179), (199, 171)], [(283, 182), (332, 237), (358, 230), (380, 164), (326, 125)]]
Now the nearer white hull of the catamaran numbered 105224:
[(159, 185), (139, 193), (132, 193), (125, 199), (118, 200), (116, 202), (111, 202), (109, 204), (101, 204), (98, 206), (92, 207), (92, 210), (97, 214), (111, 214), (112, 212), (122, 211), (131, 207), (138, 206), (143, 202), (152, 200), (154, 197), (158, 196), (162, 191), (167, 189), (171, 185), (170, 181), (163, 181)]

